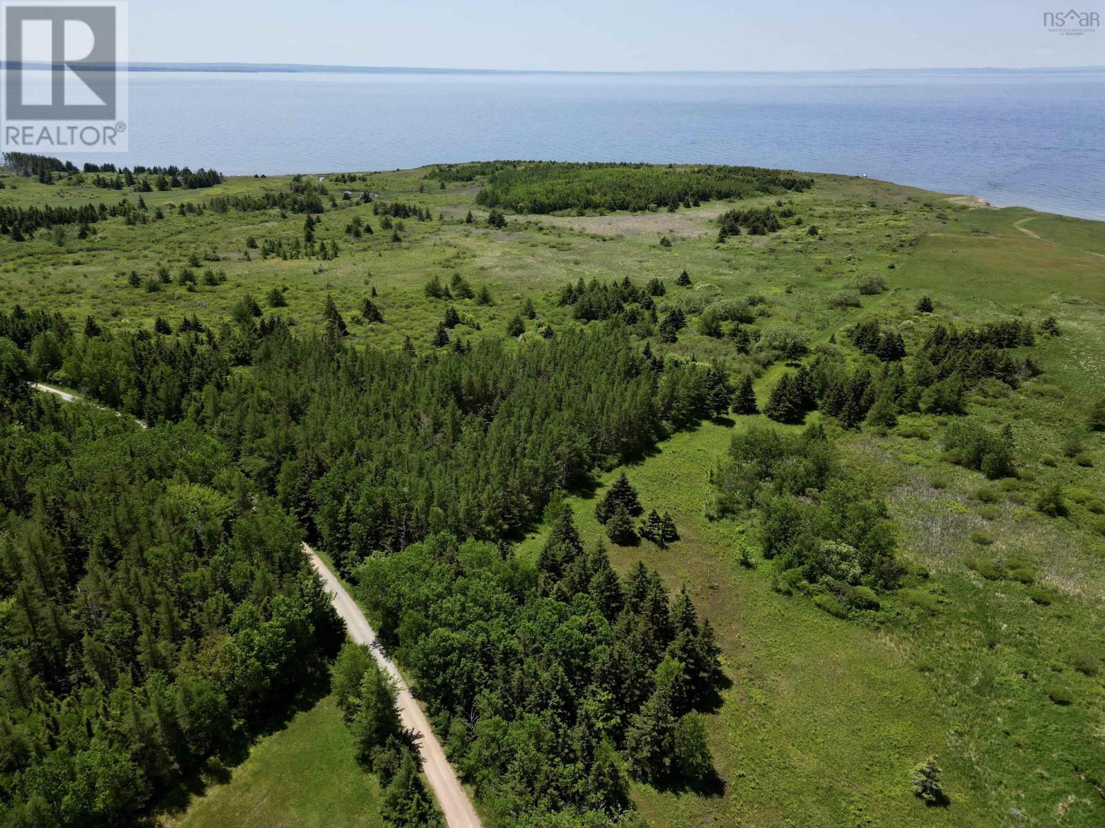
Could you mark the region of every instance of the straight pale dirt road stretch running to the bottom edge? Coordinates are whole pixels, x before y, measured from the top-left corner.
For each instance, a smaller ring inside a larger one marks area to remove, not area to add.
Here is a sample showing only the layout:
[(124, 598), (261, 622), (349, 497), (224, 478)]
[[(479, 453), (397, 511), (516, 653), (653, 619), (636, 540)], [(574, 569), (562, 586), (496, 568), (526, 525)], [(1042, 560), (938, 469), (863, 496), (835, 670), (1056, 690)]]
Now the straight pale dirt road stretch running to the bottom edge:
[(433, 789), (434, 796), (438, 797), (438, 806), (445, 815), (445, 824), (449, 825), (449, 828), (480, 828), (480, 817), (476, 816), (475, 809), (472, 807), (472, 802), (469, 799), (467, 794), (464, 793), (464, 788), (461, 787), (456, 774), (453, 773), (453, 766), (445, 758), (445, 753), (441, 750), (441, 744), (433, 735), (433, 731), (430, 730), (430, 722), (427, 721), (425, 713), (422, 712), (422, 708), (419, 707), (414, 697), (411, 696), (410, 688), (407, 687), (407, 682), (399, 675), (394, 662), (385, 656), (382, 649), (377, 646), (376, 633), (369, 626), (365, 614), (360, 612), (360, 607), (357, 606), (357, 603), (346, 592), (345, 587), (341, 586), (341, 583), (330, 572), (329, 567), (323, 562), (315, 550), (304, 543), (303, 551), (311, 558), (312, 565), (322, 576), (326, 591), (333, 594), (334, 608), (345, 619), (349, 637), (357, 644), (367, 644), (371, 648), (372, 655), (380, 667), (388, 671), (388, 675), (391, 676), (399, 688), (399, 696), (397, 698), (399, 718), (402, 720), (404, 728), (422, 734), (420, 743), (422, 749), (422, 767), (425, 771), (425, 777)]

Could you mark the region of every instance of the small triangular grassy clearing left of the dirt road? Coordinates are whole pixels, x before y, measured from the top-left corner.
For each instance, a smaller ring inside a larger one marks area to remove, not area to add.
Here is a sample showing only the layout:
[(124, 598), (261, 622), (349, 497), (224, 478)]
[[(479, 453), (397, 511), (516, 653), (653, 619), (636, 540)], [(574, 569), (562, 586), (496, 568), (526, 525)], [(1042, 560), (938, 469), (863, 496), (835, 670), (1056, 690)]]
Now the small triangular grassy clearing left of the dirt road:
[(263, 736), (242, 764), (206, 781), (160, 828), (377, 828), (379, 787), (354, 758), (333, 697)]

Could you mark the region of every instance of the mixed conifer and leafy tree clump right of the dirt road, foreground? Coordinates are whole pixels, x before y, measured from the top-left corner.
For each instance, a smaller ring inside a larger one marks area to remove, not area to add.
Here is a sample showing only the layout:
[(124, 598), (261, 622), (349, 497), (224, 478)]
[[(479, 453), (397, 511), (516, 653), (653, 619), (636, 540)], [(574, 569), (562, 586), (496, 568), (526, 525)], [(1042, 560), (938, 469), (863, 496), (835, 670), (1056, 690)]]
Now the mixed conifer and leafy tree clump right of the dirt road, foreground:
[(356, 575), (496, 824), (623, 821), (630, 776), (712, 784), (695, 711), (725, 679), (708, 622), (643, 564), (619, 578), (567, 507), (536, 563), (439, 533)]

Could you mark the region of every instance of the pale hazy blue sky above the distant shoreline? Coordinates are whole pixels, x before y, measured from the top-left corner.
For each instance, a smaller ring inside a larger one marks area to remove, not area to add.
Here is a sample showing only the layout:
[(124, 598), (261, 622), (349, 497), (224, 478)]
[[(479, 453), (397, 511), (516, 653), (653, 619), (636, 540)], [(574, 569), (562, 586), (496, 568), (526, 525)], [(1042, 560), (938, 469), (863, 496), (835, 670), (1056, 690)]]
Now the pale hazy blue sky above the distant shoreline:
[[(583, 71), (1105, 64), (1071, 0), (130, 0), (133, 62)], [(1105, 0), (1077, 10), (1105, 18)]]

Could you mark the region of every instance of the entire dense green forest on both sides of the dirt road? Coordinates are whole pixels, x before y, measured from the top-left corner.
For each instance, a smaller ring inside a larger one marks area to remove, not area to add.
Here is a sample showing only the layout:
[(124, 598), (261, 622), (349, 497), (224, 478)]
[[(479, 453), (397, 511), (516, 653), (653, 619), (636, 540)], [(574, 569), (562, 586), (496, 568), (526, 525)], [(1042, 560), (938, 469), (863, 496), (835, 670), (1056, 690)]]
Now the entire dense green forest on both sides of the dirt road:
[[(219, 332), (186, 319), (175, 335), (113, 333), (92, 319), (77, 333), (57, 315), (0, 314), (6, 785), (30, 809), (17, 821), (115, 824), (278, 707), (272, 691), (291, 692), (337, 635), (298, 551), (305, 531), (346, 576), (382, 590), (367, 606), (410, 654), (462, 772), (504, 816), (617, 816), (627, 772), (706, 783), (693, 711), (722, 679), (688, 598), (669, 606), (654, 573), (621, 584), (567, 512), (536, 566), (494, 542), (597, 466), (708, 416), (709, 372), (650, 360), (618, 320), (520, 350), (483, 340), (418, 357), (347, 348), (339, 319), (301, 339), (248, 309)], [(252, 371), (232, 374), (232, 363)], [(32, 396), (34, 378), (156, 427), (60, 408)], [(409, 567), (424, 570), (418, 583)], [(461, 617), (441, 615), (469, 599)], [(469, 613), (495, 629), (496, 655), (478, 667), (464, 662)], [(461, 636), (432, 668), (415, 618), (423, 634)], [(550, 623), (582, 637), (546, 640)], [(492, 730), (461, 739), (462, 721), (481, 715)], [(530, 760), (516, 756), (516, 739), (547, 728)], [(533, 790), (533, 763), (552, 744), (564, 776)], [(48, 790), (39, 768), (54, 762), (70, 775)], [(140, 784), (119, 787), (133, 774)]]

